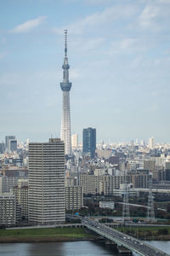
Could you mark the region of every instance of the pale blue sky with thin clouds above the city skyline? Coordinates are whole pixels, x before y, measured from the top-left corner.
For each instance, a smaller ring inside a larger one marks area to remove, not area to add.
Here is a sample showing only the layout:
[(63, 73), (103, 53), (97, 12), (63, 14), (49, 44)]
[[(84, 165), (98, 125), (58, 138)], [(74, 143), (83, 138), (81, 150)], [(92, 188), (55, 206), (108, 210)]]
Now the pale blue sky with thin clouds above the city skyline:
[(170, 0), (0, 1), (0, 142), (60, 136), (64, 29), (71, 133), (170, 143)]

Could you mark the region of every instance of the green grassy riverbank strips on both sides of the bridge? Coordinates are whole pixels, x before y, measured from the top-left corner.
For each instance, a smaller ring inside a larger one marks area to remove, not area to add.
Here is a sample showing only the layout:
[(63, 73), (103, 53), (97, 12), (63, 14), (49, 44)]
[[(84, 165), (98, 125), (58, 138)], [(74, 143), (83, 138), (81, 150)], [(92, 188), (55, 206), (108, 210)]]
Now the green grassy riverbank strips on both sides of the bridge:
[[(122, 227), (118, 230), (140, 240), (170, 241), (170, 227)], [(79, 227), (0, 230), (0, 243), (97, 241), (99, 239), (97, 234)]]

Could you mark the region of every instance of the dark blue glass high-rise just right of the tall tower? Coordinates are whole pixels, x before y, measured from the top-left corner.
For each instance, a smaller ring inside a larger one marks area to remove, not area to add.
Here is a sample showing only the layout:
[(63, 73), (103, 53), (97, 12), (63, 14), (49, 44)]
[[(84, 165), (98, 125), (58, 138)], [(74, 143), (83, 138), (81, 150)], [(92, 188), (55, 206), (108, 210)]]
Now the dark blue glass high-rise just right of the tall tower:
[(84, 156), (95, 157), (96, 129), (87, 128), (82, 131), (82, 152)]

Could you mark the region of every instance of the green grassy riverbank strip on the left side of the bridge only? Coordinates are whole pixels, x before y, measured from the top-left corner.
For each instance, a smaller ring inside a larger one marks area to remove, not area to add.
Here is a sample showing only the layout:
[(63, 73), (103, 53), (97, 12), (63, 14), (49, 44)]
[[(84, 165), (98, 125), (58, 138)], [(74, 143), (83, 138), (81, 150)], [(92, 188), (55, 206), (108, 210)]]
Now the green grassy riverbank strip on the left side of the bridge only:
[(83, 228), (0, 230), (0, 242), (89, 241), (97, 236)]

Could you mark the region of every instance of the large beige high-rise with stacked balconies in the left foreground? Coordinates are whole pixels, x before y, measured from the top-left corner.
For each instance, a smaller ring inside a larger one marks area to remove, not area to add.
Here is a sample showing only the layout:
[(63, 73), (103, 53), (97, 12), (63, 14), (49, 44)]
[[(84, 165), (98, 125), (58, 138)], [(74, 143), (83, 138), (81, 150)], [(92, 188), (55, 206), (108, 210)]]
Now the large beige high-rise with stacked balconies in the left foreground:
[(34, 224), (65, 222), (65, 145), (57, 138), (29, 144), (28, 218)]

